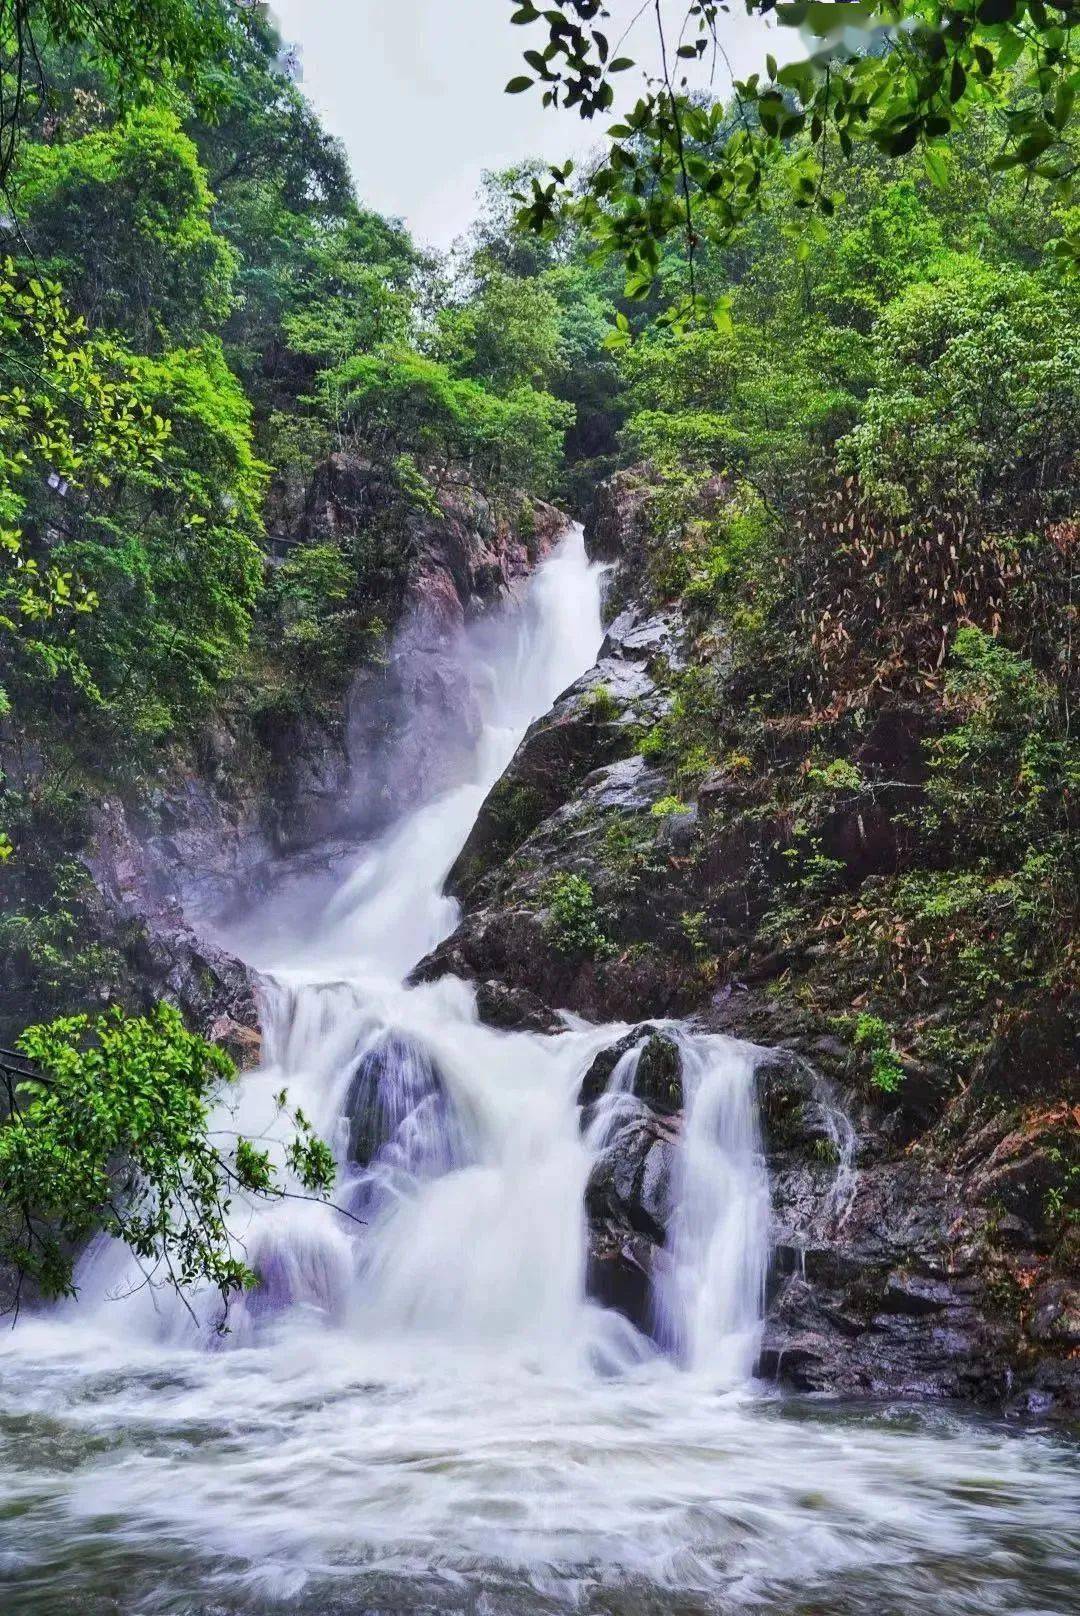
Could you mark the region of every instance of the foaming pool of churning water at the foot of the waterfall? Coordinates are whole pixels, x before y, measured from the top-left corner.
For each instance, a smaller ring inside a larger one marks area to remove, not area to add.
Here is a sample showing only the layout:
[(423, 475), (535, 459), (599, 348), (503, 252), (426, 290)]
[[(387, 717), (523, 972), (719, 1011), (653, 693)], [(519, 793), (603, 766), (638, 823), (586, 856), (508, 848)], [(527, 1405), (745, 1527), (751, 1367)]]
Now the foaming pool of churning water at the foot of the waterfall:
[[(0, 1343), (5, 1616), (1067, 1616), (1067, 1441), (297, 1314)], [(6, 1535), (5, 1535), (6, 1529)]]

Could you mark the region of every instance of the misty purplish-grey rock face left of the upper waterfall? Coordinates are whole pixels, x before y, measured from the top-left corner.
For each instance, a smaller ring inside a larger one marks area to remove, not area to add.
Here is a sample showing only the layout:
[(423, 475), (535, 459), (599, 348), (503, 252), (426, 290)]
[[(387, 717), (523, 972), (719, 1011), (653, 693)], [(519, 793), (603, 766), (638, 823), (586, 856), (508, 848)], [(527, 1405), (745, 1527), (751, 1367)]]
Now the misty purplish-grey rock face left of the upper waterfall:
[[(82, 860), (100, 894), (102, 934), (129, 968), (129, 995), (173, 999), (241, 1065), (259, 1054), (254, 987), (239, 960), (209, 941), (210, 920), (234, 895), (257, 897), (283, 860), (331, 860), (335, 839), (372, 834), (438, 789), (438, 771), (451, 777), (454, 748), (475, 724), (454, 656), (461, 629), (504, 600), (569, 525), (543, 501), (522, 503), (511, 524), (464, 482), (448, 485), (438, 506), (403, 507), (385, 473), (349, 456), (319, 467), (293, 512), (301, 543), (348, 538), (375, 519), (401, 528), (399, 572), (382, 603), (394, 625), (386, 663), (359, 671), (340, 714), (322, 724), (285, 724), (259, 750), (217, 722), (194, 768), (137, 802), (95, 806)], [(545, 1025), (558, 1023), (540, 1012)]]

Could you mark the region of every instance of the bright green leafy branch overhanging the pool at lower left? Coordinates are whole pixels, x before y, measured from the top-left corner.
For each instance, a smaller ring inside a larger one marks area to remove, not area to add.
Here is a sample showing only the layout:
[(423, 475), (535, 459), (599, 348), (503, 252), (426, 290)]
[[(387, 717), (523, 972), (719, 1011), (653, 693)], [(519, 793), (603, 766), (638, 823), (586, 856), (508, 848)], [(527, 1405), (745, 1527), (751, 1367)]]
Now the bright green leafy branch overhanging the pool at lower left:
[[(99, 1231), (131, 1248), (150, 1285), (209, 1283), (228, 1307), (257, 1281), (230, 1236), (230, 1210), (238, 1196), (288, 1191), (267, 1149), (212, 1126), (234, 1076), (221, 1049), (189, 1033), (170, 1005), (32, 1026), (18, 1049), (34, 1076), (0, 1071), (10, 1102), (0, 1123), (0, 1257), (19, 1277), (13, 1306), (24, 1280), (45, 1296), (74, 1294), (71, 1251)], [(333, 1159), (299, 1112), (293, 1122), (288, 1165), (306, 1193), (325, 1196)]]

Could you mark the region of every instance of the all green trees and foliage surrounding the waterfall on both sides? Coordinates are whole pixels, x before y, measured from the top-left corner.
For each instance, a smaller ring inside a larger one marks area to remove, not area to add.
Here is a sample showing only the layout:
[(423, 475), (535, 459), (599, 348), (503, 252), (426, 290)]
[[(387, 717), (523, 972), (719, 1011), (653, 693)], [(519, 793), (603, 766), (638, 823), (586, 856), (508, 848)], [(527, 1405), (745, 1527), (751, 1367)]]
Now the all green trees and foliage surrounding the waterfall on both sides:
[[(251, 1278), (205, 1209), (278, 1186), (244, 1141), (207, 1147), (226, 1073), (194, 1034), (86, 1020), (124, 971), (79, 852), (100, 795), (147, 793), (209, 722), (257, 737), (338, 701), (385, 645), (411, 514), (454, 478), (514, 516), (648, 469), (648, 587), (697, 656), (642, 747), (687, 797), (723, 760), (768, 776), (776, 945), (816, 928), (875, 973), (881, 1086), (889, 1018), (964, 1081), (1075, 973), (1075, 6), (779, 6), (821, 48), (721, 103), (682, 73), (724, 10), (687, 6), (584, 178), (490, 175), (438, 262), (357, 200), (259, 8), (3, 0), (0, 941), (13, 997), (65, 1020), (19, 1046), (37, 1083), (5, 1079), (0, 1254), (45, 1290), (95, 1227), (181, 1283)], [(542, 94), (611, 110), (629, 65), (597, 0), (513, 23)], [(393, 498), (268, 566), (335, 454)], [(821, 826), (873, 805), (850, 737), (899, 701), (928, 703), (913, 866), (859, 892)], [(928, 970), (956, 1013), (920, 1026)], [(328, 1189), (302, 1117), (294, 1160)]]

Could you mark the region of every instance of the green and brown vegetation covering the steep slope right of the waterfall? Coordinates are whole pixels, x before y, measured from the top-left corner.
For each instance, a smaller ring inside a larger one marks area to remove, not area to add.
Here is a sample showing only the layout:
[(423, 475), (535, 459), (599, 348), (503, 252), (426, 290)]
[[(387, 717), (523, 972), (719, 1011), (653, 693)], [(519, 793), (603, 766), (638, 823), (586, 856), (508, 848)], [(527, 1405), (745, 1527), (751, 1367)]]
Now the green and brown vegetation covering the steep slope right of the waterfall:
[(849, 162), (808, 250), (766, 215), (698, 262), (728, 328), (619, 349), (645, 567), (695, 637), (639, 750), (655, 813), (723, 798), (705, 932), (745, 898), (731, 976), (768, 955), (867, 1081), (930, 1063), (943, 1100), (1072, 1004), (1080, 921), (1080, 292), (986, 137), (944, 189)]

